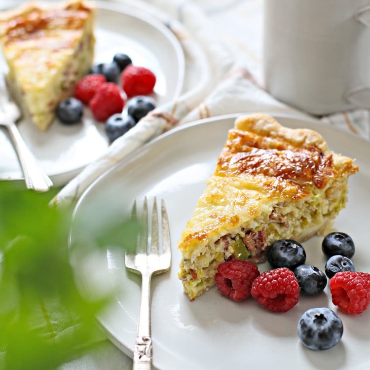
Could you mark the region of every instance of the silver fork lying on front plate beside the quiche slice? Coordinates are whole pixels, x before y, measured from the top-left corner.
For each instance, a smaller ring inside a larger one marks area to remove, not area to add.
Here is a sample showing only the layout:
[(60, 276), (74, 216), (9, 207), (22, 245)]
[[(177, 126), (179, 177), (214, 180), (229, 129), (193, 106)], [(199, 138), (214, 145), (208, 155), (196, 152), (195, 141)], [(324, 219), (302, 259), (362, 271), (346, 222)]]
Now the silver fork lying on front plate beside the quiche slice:
[[(137, 218), (136, 201), (132, 217)], [(150, 323), (150, 280), (154, 274), (167, 271), (171, 266), (170, 228), (164, 201), (161, 202), (162, 248), (159, 247), (159, 222), (157, 202), (154, 197), (149, 233), (148, 200), (144, 198), (142, 231), (138, 236), (135, 253), (126, 251), (125, 264), (128, 269), (142, 275), (141, 303), (138, 333), (135, 342), (133, 370), (151, 369), (152, 342)]]

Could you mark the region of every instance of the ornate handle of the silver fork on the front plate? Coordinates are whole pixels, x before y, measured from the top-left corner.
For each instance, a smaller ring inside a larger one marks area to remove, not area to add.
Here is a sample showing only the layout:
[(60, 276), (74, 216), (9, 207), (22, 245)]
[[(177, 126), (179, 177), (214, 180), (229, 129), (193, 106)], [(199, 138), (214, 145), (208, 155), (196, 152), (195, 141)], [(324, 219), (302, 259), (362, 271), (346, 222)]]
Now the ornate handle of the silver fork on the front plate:
[(150, 280), (151, 274), (142, 275), (138, 335), (134, 348), (133, 370), (151, 369)]

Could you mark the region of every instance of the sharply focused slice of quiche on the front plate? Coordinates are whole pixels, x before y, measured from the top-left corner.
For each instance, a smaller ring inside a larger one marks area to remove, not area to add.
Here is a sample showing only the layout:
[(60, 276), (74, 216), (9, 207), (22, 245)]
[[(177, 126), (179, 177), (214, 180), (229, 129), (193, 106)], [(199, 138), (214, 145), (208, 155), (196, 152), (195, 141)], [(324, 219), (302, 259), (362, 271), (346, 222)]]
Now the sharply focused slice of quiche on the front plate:
[(328, 232), (358, 171), (353, 162), (315, 131), (283, 127), (265, 114), (236, 119), (178, 243), (190, 300), (215, 284), (224, 260), (262, 262), (278, 239)]

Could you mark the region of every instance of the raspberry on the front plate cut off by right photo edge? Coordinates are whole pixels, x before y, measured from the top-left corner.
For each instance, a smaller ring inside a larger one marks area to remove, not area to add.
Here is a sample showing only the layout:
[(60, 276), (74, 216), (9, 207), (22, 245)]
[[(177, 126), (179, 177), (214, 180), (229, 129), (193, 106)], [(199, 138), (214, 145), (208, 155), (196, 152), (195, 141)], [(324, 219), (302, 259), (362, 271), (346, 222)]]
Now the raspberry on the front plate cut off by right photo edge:
[(335, 306), (350, 315), (364, 312), (370, 304), (370, 274), (340, 271), (329, 281)]

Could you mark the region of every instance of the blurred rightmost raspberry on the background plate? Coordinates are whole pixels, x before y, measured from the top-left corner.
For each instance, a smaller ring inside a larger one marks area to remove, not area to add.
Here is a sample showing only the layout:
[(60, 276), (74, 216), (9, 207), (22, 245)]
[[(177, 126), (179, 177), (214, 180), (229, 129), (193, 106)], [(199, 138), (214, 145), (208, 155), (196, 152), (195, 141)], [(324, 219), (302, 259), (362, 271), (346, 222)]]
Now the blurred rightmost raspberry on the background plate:
[(128, 97), (148, 95), (153, 92), (155, 75), (145, 67), (128, 65), (122, 72), (122, 89)]

